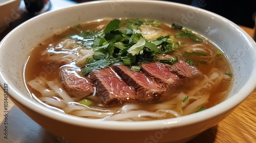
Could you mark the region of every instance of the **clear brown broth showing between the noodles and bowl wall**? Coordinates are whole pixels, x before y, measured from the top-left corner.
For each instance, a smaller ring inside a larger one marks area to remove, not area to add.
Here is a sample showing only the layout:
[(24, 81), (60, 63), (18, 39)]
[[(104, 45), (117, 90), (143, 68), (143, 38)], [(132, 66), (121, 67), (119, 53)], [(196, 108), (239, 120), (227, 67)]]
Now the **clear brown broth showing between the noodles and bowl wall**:
[[(104, 26), (109, 23), (109, 20), (102, 20), (102, 21), (96, 21), (96, 22), (89, 22), (82, 25), (82, 28), (80, 30), (101, 30), (104, 29)], [(162, 25), (161, 29), (165, 31), (168, 35), (174, 35), (178, 32), (176, 29), (170, 29), (168, 25)], [(79, 30), (79, 31), (80, 31)], [(64, 31), (62, 31), (60, 34), (54, 34), (47, 38), (46, 40), (42, 41), (38, 45), (36, 45), (30, 52), (28, 59), (26, 61), (25, 65), (25, 83), (27, 83), (30, 80), (33, 80), (35, 77), (41, 76), (46, 78), (47, 80), (53, 80), (53, 79), (59, 79), (59, 67), (54, 64), (49, 64), (47, 61), (45, 61), (45, 58), (48, 56), (48, 54), (41, 55), (41, 53), (46, 52), (47, 49), (49, 49), (51, 46), (56, 46), (59, 42), (62, 41), (63, 37), (70, 33), (79, 33), (77, 29), (68, 28)], [(203, 38), (203, 37), (201, 37)], [(204, 43), (207, 46), (207, 49), (211, 49), (212, 52), (218, 53), (220, 50), (218, 47), (216, 47), (214, 44), (212, 44), (210, 41), (204, 39)], [(198, 42), (192, 41), (189, 38), (184, 39), (176, 39), (173, 37), (174, 41), (179, 41), (180, 43), (185, 42), (185, 44), (180, 45), (180, 49), (183, 47), (187, 47), (188, 45), (192, 44), (198, 44)], [(181, 53), (184, 55), (185, 51), (180, 50), (178, 53)], [(182, 57), (184, 61), (187, 61), (189, 59), (195, 61), (197, 63), (197, 68), (204, 74), (208, 75), (210, 70), (213, 67), (219, 68), (222, 70), (223, 73), (232, 72), (230, 63), (228, 59), (225, 57), (224, 54), (220, 54), (216, 56), (211, 64), (209, 64), (209, 59), (206, 59), (204, 57)], [(59, 79), (59, 82), (60, 79)], [(177, 90), (177, 93), (179, 92), (187, 92), (191, 87), (195, 85), (195, 82), (197, 80), (187, 82), (184, 86), (182, 86), (181, 89)], [(205, 106), (206, 108), (212, 107), (214, 105), (217, 105), (218, 103), (222, 102), (226, 99), (228, 96), (230, 87), (232, 85), (232, 80), (226, 80), (222, 81), (218, 87), (212, 87), (210, 90), (210, 98), (208, 99), (209, 103), (207, 103)], [(30, 90), (31, 94), (34, 94), (36, 97), (41, 97), (40, 93), (30, 86), (28, 86), (28, 89)], [(145, 106), (146, 108), (146, 106)], [(168, 118), (168, 117), (166, 117)]]

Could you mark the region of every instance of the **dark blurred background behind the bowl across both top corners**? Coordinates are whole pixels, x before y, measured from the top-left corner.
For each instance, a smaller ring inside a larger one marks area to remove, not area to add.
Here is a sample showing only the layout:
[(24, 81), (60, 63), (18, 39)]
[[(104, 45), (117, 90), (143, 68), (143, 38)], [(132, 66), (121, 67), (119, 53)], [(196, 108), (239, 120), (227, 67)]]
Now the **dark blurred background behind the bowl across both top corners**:
[[(7, 8), (2, 4), (10, 0), (0, 0), (0, 23), (1, 20), (7, 25), (0, 29), (0, 40), (20, 23), (50, 10), (56, 10), (71, 5), (89, 2), (90, 0), (13, 0), (20, 1), (16, 9)], [(145, 0), (147, 1), (147, 0)], [(150, 1), (150, 0), (148, 0)], [(167, 0), (165, 0), (167, 1)], [(254, 28), (256, 15), (256, 0), (168, 0), (169, 2), (181, 3), (202, 8), (217, 13), (240, 26)], [(2, 3), (2, 4), (1, 4)], [(18, 2), (19, 3), (19, 2)], [(7, 12), (11, 15), (5, 16)], [(154, 10), (152, 10), (154, 11)], [(4, 18), (1, 17), (1, 14)]]

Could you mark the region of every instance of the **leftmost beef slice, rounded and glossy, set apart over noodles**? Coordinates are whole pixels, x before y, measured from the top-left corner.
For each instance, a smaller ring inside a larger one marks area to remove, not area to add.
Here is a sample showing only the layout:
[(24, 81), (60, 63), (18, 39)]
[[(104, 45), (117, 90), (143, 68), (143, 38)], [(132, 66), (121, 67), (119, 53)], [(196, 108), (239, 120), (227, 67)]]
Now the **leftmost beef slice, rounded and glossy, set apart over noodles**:
[(63, 87), (74, 97), (82, 99), (94, 93), (94, 87), (90, 79), (80, 76), (76, 70), (70, 67), (60, 68), (60, 77)]

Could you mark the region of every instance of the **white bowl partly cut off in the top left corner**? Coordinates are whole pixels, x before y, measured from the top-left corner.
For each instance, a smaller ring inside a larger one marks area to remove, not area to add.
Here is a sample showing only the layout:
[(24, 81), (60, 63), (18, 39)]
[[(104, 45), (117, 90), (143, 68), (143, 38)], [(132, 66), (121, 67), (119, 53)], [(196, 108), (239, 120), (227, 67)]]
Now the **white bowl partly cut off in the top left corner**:
[(0, 0), (0, 33), (19, 18), (18, 7), (20, 0)]

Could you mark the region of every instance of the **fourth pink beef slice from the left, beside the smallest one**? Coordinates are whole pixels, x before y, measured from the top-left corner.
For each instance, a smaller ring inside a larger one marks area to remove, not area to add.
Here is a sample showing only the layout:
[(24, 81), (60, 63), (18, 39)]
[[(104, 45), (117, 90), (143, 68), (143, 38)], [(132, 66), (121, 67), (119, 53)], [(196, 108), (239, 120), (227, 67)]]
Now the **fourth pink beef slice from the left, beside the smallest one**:
[(156, 82), (160, 83), (165, 90), (175, 89), (176, 86), (183, 83), (183, 81), (174, 73), (170, 72), (168, 66), (163, 63), (143, 63), (141, 70), (148, 77), (151, 77)]

